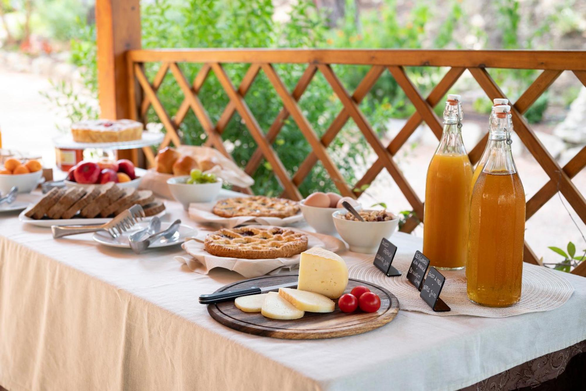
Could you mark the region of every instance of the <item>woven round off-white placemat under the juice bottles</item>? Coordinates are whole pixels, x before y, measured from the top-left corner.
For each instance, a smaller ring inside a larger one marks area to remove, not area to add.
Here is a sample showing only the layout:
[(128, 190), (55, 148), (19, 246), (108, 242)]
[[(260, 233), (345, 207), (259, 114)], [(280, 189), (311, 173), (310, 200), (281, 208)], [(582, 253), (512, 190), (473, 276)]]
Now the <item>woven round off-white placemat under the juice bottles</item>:
[(523, 262), (523, 287), (521, 300), (510, 307), (485, 307), (472, 303), (466, 294), (466, 276), (464, 270), (440, 270), (446, 277), (440, 297), (451, 311), (434, 312), (419, 296), (419, 291), (407, 280), (410, 258), (398, 255), (393, 266), (401, 276), (387, 277), (373, 266), (373, 259), (365, 260), (349, 269), (350, 277), (379, 284), (390, 290), (399, 299), (401, 310), (420, 311), (432, 315), (474, 315), (488, 318), (505, 318), (530, 312), (549, 311), (563, 305), (574, 287), (564, 277), (547, 269), (547, 267), (530, 265)]

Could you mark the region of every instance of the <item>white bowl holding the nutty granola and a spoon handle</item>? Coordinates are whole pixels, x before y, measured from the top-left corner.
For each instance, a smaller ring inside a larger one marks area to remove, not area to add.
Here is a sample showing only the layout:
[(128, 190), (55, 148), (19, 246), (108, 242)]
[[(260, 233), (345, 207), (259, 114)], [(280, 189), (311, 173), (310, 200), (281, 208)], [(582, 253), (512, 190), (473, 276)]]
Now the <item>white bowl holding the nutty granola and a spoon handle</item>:
[(375, 253), (380, 241), (389, 239), (399, 224), (397, 216), (388, 221), (353, 221), (340, 217), (343, 214), (346, 212), (333, 212), (333, 224), (340, 237), (350, 246), (350, 251), (354, 252)]

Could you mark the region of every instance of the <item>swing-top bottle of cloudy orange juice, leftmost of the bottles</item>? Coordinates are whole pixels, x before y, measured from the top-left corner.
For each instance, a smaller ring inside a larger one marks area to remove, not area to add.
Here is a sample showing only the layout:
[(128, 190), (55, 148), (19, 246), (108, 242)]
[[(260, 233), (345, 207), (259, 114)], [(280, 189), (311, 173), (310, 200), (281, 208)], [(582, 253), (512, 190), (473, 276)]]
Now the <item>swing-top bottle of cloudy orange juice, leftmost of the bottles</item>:
[(427, 169), (423, 217), (423, 253), (441, 269), (462, 269), (468, 255), (472, 166), (461, 128), (461, 98), (450, 94), (444, 132)]

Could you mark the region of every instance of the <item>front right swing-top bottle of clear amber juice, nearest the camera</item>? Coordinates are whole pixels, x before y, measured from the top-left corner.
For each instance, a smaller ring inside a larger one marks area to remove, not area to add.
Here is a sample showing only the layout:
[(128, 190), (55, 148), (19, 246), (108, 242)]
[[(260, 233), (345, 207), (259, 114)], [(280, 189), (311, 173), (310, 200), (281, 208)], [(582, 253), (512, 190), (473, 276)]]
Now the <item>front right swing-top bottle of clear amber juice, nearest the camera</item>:
[(468, 298), (505, 307), (521, 298), (525, 192), (510, 149), (510, 106), (495, 107), (489, 155), (472, 192)]

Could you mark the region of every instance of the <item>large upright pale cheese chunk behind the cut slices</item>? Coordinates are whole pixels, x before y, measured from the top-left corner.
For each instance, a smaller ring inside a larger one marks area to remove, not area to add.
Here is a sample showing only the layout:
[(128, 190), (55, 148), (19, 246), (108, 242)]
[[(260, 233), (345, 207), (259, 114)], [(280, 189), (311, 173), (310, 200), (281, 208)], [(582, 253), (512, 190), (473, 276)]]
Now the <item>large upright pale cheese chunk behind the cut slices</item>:
[(301, 253), (297, 289), (337, 299), (347, 284), (348, 267), (338, 254), (316, 247)]

